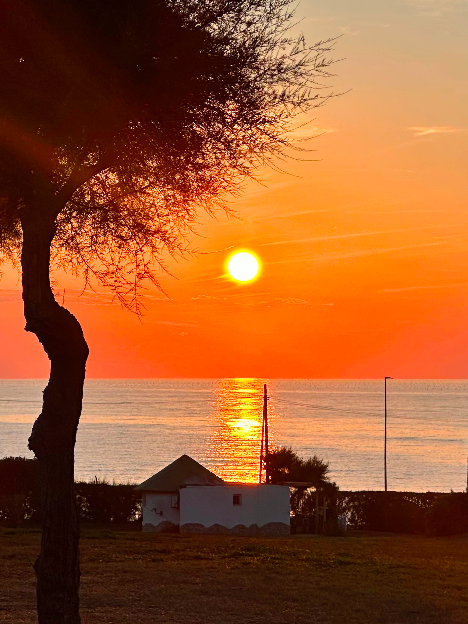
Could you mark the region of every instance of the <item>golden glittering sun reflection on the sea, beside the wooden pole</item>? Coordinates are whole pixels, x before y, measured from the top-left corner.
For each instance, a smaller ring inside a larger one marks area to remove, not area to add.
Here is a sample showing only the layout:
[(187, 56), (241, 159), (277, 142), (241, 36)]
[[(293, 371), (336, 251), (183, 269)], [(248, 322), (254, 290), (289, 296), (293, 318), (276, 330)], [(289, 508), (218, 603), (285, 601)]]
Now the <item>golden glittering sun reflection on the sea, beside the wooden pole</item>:
[[(206, 465), (227, 481), (258, 482), (263, 384), (267, 379), (220, 379), (216, 388), (216, 426)], [(268, 405), (270, 446), (275, 446), (275, 413)]]

